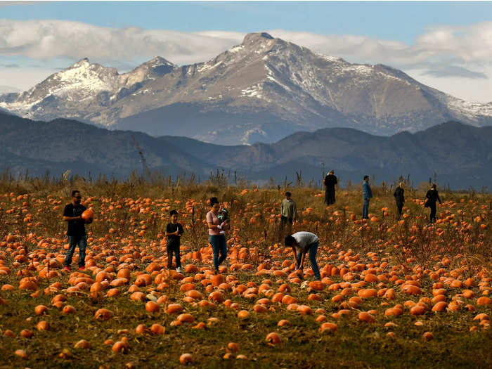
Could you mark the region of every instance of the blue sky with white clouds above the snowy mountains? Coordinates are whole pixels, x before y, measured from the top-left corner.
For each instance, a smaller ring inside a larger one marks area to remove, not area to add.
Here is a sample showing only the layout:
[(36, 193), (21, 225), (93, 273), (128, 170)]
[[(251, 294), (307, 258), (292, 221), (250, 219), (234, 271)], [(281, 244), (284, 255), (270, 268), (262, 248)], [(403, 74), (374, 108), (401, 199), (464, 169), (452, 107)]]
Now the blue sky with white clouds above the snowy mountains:
[(118, 70), (157, 55), (197, 63), (264, 30), (492, 101), (492, 2), (0, 3), (0, 86), (27, 89), (85, 56)]

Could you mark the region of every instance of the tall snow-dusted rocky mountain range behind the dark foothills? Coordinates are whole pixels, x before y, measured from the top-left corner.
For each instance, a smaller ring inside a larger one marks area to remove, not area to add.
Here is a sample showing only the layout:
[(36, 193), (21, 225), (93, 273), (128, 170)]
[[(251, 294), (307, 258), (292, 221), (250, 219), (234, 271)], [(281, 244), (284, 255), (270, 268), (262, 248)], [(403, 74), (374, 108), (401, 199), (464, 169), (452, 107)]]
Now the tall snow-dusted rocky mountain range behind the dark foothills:
[(181, 67), (157, 57), (119, 74), (82, 59), (27, 91), (0, 95), (0, 108), (220, 145), (275, 143), (327, 127), (389, 136), (448, 121), (492, 124), (492, 103), (467, 103), (392, 67), (348, 63), (267, 33)]

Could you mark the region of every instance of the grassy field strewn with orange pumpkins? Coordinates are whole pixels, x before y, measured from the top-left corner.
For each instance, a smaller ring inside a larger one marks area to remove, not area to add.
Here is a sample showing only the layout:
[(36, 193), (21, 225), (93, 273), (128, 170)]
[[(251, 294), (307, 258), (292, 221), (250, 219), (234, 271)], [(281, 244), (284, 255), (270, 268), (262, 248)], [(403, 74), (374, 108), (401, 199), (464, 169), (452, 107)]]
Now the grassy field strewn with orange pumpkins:
[[(70, 190), (96, 214), (86, 269), (63, 270)], [(335, 205), (289, 188), (294, 231), (321, 239), (313, 281), (278, 229), (283, 190), (145, 181), (0, 183), (0, 368), (491, 368), (492, 195), (373, 186)], [(228, 258), (212, 273), (207, 199), (229, 210)], [(169, 210), (185, 229), (167, 269)], [(189, 354), (189, 355), (183, 355)], [(189, 361), (189, 362), (188, 362)]]

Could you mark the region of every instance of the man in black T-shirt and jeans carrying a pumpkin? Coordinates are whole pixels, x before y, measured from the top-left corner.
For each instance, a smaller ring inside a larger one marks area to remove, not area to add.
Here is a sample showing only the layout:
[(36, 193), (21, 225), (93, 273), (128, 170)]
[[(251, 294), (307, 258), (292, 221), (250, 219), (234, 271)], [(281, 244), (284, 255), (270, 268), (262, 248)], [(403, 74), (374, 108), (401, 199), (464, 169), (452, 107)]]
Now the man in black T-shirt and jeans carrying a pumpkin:
[(65, 210), (63, 210), (63, 221), (68, 223), (67, 236), (70, 245), (65, 257), (65, 269), (67, 271), (70, 271), (70, 264), (72, 264), (72, 257), (77, 245), (79, 245), (79, 270), (85, 269), (87, 238), (85, 221), (81, 215), (86, 210), (86, 207), (81, 205), (81, 199), (80, 192), (73, 190), (72, 202), (65, 206)]

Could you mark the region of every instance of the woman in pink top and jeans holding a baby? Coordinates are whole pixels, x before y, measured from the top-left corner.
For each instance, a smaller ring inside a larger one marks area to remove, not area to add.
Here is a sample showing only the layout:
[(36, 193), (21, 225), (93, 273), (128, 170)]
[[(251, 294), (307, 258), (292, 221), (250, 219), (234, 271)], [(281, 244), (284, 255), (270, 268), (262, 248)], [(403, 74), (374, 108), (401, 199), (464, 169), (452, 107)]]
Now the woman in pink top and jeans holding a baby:
[[(227, 224), (222, 223), (217, 217), (220, 211), (220, 204), (217, 198), (210, 198), (210, 211), (207, 213), (207, 226), (209, 228), (209, 243), (214, 252), (214, 270), (219, 273), (219, 265), (227, 257), (226, 235), (221, 233), (226, 231)], [(220, 254), (220, 257), (219, 257)]]

